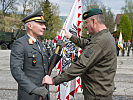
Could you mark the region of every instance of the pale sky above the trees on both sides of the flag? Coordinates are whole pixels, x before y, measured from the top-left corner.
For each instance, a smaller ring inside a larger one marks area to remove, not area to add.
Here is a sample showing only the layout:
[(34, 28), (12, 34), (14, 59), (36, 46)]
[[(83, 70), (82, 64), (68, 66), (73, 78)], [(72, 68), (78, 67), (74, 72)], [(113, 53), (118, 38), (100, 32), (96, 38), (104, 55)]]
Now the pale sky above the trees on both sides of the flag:
[[(60, 16), (68, 16), (74, 0), (49, 0), (53, 4), (59, 5)], [(121, 8), (125, 5), (125, 0), (100, 0), (106, 7), (116, 14), (121, 13)]]

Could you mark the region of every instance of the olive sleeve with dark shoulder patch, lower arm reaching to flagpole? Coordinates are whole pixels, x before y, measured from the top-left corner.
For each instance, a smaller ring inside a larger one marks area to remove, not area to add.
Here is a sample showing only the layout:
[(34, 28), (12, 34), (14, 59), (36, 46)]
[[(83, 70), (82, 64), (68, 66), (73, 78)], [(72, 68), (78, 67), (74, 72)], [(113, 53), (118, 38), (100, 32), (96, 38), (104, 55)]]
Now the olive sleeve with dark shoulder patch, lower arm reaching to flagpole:
[(75, 63), (53, 78), (54, 84), (58, 85), (82, 75), (101, 59), (102, 54), (102, 48), (98, 44), (88, 45)]

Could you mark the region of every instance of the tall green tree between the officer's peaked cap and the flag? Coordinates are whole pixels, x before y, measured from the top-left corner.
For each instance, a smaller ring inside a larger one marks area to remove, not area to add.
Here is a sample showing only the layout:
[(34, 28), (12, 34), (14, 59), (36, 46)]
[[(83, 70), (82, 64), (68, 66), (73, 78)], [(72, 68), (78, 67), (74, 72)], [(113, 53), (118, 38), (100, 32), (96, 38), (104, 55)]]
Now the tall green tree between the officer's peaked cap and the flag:
[(46, 31), (44, 32), (44, 38), (54, 39), (57, 32), (61, 29), (61, 20), (59, 18), (58, 6), (54, 6), (48, 0), (41, 3), (44, 10), (44, 19), (46, 20)]

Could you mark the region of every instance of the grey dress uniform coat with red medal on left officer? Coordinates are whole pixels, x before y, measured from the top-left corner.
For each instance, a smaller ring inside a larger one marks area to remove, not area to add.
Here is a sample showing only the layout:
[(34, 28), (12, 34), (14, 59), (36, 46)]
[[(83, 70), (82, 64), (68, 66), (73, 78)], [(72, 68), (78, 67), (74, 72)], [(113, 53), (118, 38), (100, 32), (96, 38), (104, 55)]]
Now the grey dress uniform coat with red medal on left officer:
[[(29, 44), (26, 34), (13, 43), (10, 55), (10, 69), (18, 82), (18, 100), (38, 100), (39, 96), (29, 95), (36, 87), (42, 86), (42, 79), (48, 72), (48, 56), (46, 49), (40, 42)], [(36, 64), (33, 65), (33, 59)], [(47, 100), (47, 98), (45, 99)]]

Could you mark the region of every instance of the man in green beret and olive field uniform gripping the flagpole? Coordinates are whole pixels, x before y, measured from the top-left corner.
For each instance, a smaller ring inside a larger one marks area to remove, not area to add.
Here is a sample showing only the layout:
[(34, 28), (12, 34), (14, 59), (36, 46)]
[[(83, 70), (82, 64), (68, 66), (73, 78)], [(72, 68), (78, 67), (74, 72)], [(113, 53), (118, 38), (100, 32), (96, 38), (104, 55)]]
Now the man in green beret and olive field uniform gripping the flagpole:
[(58, 85), (81, 75), (85, 100), (112, 100), (117, 67), (115, 40), (105, 26), (101, 9), (89, 9), (83, 19), (90, 39), (80, 39), (64, 29), (64, 36), (82, 48), (81, 55), (62, 74), (53, 78), (46, 75), (43, 83)]

